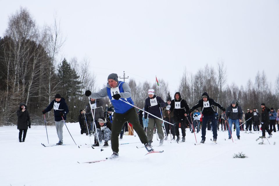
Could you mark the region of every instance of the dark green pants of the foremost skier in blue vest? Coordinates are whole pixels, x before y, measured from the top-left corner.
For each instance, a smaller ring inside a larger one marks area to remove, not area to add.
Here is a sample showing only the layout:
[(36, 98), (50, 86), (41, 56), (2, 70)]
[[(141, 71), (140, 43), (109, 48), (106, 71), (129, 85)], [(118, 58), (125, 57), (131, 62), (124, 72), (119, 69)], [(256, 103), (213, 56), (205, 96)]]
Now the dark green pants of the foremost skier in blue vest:
[(119, 151), (118, 136), (121, 132), (122, 126), (127, 121), (133, 125), (133, 128), (135, 129), (137, 135), (139, 135), (140, 141), (143, 144), (148, 143), (144, 129), (140, 125), (139, 116), (137, 115), (135, 108), (131, 108), (124, 114), (114, 113), (112, 127), (111, 127), (111, 138), (110, 138), (111, 149), (113, 152)]

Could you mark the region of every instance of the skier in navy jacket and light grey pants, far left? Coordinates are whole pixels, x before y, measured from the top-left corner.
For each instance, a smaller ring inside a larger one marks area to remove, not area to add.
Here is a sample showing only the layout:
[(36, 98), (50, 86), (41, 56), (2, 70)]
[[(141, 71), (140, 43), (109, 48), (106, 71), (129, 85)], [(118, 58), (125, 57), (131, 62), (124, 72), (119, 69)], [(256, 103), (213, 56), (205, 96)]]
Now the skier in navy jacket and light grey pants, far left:
[[(56, 145), (62, 145), (63, 144), (63, 126), (64, 121), (66, 121), (67, 113), (69, 112), (68, 105), (65, 102), (65, 99), (60, 96), (60, 94), (55, 95), (55, 99), (51, 101), (49, 106), (42, 111), (43, 114), (51, 111), (53, 108), (54, 113), (54, 121), (56, 126), (56, 132), (59, 138), (59, 142)], [(62, 119), (63, 117), (63, 119)]]

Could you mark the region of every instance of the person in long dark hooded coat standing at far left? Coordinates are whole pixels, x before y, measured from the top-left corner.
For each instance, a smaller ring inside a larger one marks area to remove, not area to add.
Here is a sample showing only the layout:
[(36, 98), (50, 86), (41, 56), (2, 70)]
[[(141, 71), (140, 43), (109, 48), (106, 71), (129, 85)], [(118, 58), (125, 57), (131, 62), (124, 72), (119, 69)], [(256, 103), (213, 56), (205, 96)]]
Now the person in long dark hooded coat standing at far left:
[[(24, 103), (20, 103), (19, 110), (17, 110), (17, 129), (19, 129), (19, 142), (24, 142), (28, 127), (31, 128), (31, 120), (27, 107)], [(23, 132), (23, 138), (22, 137)]]

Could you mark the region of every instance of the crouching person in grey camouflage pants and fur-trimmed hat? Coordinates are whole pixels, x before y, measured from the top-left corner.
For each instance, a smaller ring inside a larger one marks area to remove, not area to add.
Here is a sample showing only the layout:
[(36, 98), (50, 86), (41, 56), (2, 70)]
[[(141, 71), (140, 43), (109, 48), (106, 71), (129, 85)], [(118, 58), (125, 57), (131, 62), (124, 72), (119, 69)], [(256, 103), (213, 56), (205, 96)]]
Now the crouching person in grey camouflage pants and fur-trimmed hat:
[[(104, 146), (108, 146), (108, 140), (110, 140), (111, 136), (111, 123), (104, 117), (100, 117), (98, 119), (98, 124), (96, 125), (97, 132), (95, 133), (95, 143), (93, 146), (99, 146), (99, 142), (101, 143), (105, 140)], [(97, 136), (98, 135), (98, 136)], [(98, 142), (99, 137), (99, 142)]]

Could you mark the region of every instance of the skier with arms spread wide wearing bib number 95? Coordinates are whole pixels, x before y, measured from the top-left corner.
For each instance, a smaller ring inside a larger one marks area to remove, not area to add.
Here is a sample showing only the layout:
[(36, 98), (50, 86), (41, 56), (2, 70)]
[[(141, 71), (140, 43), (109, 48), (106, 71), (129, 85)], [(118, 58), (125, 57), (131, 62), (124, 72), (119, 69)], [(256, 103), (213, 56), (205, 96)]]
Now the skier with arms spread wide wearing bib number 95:
[(201, 100), (194, 105), (189, 114), (199, 107), (202, 107), (202, 114), (203, 114), (203, 126), (201, 127), (201, 143), (205, 142), (205, 134), (206, 134), (206, 124), (211, 119), (212, 123), (212, 132), (213, 132), (213, 141), (216, 142), (217, 140), (217, 124), (215, 119), (215, 110), (213, 109), (213, 105), (219, 107), (221, 110), (225, 111), (226, 109), (222, 107), (219, 103), (215, 102), (214, 99), (209, 98), (208, 94), (204, 92), (201, 96)]

